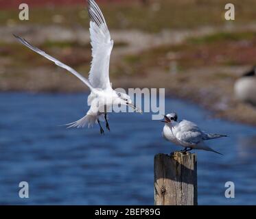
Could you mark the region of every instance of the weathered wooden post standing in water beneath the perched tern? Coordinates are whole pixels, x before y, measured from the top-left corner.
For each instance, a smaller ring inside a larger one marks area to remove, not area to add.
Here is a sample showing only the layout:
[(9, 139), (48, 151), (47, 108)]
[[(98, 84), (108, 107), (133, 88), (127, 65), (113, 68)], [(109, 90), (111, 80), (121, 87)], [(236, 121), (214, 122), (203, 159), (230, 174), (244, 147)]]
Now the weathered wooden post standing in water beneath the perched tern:
[(154, 205), (197, 205), (196, 154), (154, 156)]

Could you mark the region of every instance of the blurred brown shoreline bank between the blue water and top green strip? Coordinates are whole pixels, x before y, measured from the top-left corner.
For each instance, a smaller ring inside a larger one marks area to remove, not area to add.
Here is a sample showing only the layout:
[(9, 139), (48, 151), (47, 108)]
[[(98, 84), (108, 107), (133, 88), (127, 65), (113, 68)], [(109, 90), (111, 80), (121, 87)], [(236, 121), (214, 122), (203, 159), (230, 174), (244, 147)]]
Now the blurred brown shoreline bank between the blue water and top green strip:
[[(78, 28), (71, 34), (65, 28), (57, 29), (66, 33), (59, 42), (53, 27), (43, 31), (32, 28), (25, 38), (87, 78), (91, 62), (88, 31)], [(233, 94), (235, 80), (254, 62), (256, 25), (224, 29), (165, 30), (158, 34), (112, 31), (116, 45), (110, 59), (113, 88), (165, 88), (166, 96), (197, 104), (213, 117), (256, 125), (256, 110), (235, 100)], [(32, 39), (33, 31), (37, 34)], [(139, 40), (132, 40), (134, 37)], [(14, 38), (7, 41), (0, 48), (0, 92), (88, 92), (66, 70), (23, 48)]]

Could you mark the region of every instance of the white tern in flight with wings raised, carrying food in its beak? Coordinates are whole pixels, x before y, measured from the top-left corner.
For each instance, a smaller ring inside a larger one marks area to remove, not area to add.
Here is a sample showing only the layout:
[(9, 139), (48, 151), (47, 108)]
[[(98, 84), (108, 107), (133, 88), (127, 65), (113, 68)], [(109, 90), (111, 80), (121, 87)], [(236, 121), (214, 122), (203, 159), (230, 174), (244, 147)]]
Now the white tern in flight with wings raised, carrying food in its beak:
[[(107, 112), (113, 105), (128, 105), (135, 112), (141, 112), (135, 105), (132, 104), (130, 96), (122, 92), (116, 92), (110, 85), (109, 80), (109, 62), (110, 54), (113, 49), (113, 40), (110, 38), (110, 33), (106, 25), (104, 16), (94, 0), (88, 0), (88, 12), (90, 17), (90, 38), (92, 46), (93, 60), (91, 62), (91, 70), (89, 72), (89, 80), (80, 75), (73, 68), (63, 64), (56, 58), (51, 57), (44, 51), (32, 46), (25, 39), (14, 35), (19, 42), (26, 47), (32, 49), (36, 53), (43, 55), (48, 60), (55, 62), (61, 68), (65, 68), (70, 73), (78, 77), (91, 90), (88, 96), (87, 104), (90, 106), (89, 111), (80, 120), (67, 124), (69, 127), (92, 127), (95, 123), (100, 125), (100, 121), (106, 121), (106, 129), (109, 129)], [(69, 128), (68, 127), (68, 128)], [(104, 133), (104, 129), (100, 125), (100, 133)]]

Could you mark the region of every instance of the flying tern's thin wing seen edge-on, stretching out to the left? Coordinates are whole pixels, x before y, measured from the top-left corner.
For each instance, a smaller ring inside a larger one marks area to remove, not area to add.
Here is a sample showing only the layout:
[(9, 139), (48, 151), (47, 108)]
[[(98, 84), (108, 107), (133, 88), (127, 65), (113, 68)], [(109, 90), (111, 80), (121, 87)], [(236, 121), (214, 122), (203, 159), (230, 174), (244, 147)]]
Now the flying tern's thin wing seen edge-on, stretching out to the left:
[[(14, 35), (14, 34), (13, 34)], [(60, 66), (61, 68), (65, 68), (66, 70), (68, 70), (70, 73), (72, 73), (73, 75), (75, 75), (76, 77), (78, 77), (81, 81), (83, 81), (86, 86), (88, 86), (91, 90), (93, 90), (93, 86), (91, 85), (91, 83), (85, 78), (82, 77), (82, 75), (80, 75), (77, 71), (75, 71), (73, 68), (67, 66), (66, 64), (63, 64), (62, 62), (60, 62), (59, 60), (56, 60), (56, 58), (52, 57), (51, 55), (48, 55), (47, 53), (45, 53), (44, 51), (33, 47), (32, 44), (30, 44), (29, 42), (27, 42), (27, 40), (14, 35), (19, 42), (21, 42), (22, 44), (24, 44), (26, 47), (32, 49), (33, 51), (35, 51), (36, 53), (43, 55), (44, 57), (46, 57), (48, 60), (51, 60), (52, 62), (54, 62), (57, 66)]]

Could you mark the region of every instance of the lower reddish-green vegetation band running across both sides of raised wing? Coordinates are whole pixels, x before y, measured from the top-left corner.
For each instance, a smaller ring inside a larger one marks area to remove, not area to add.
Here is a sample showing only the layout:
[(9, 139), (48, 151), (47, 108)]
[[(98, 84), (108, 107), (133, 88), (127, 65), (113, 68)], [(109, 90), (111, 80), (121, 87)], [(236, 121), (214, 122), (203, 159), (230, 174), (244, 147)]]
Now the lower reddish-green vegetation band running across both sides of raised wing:
[[(0, 57), (9, 60), (5, 66), (17, 68), (55, 66), (40, 55), (36, 55), (18, 42), (0, 42)], [(253, 46), (255, 45), (255, 46)], [(36, 45), (78, 70), (89, 70), (91, 62), (91, 45), (78, 42), (46, 41)], [(115, 47), (126, 47), (124, 42), (116, 43)], [(139, 54), (124, 55), (118, 62), (111, 63), (111, 71), (115, 73), (138, 74), (146, 73), (150, 68), (161, 68), (169, 72), (171, 62), (176, 63), (178, 71), (203, 66), (234, 66), (255, 63), (256, 32), (220, 32), (198, 38), (188, 38), (182, 44), (163, 45), (143, 51)]]

